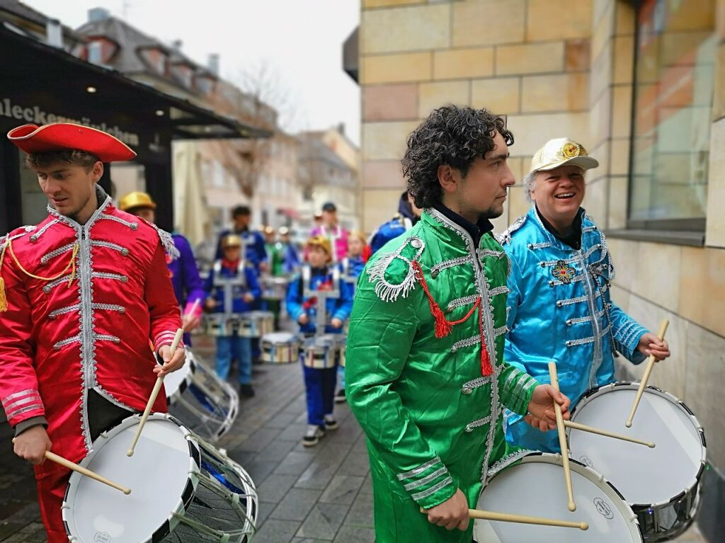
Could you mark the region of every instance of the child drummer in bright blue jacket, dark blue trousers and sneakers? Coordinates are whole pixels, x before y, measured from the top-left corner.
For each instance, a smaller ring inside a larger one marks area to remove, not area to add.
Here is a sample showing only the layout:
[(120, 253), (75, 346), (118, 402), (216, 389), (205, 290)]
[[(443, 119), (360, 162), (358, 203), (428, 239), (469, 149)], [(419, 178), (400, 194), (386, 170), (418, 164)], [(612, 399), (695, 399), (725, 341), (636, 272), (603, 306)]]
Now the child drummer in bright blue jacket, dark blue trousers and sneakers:
[[(344, 320), (352, 310), (352, 289), (340, 280), (339, 269), (330, 265), (332, 260), (330, 241), (323, 236), (312, 236), (307, 241), (307, 262), (302, 271), (287, 289), (287, 312), (299, 324), (299, 331), (305, 336), (339, 334)], [(317, 295), (313, 292), (319, 293)], [(325, 356), (327, 354), (325, 353)], [(334, 349), (330, 356), (335, 356)], [(311, 367), (302, 354), (307, 395), (307, 432), (302, 439), (305, 447), (318, 444), (326, 430), (337, 428), (332, 412), (336, 385), (336, 360), (324, 364), (326, 367)]]

